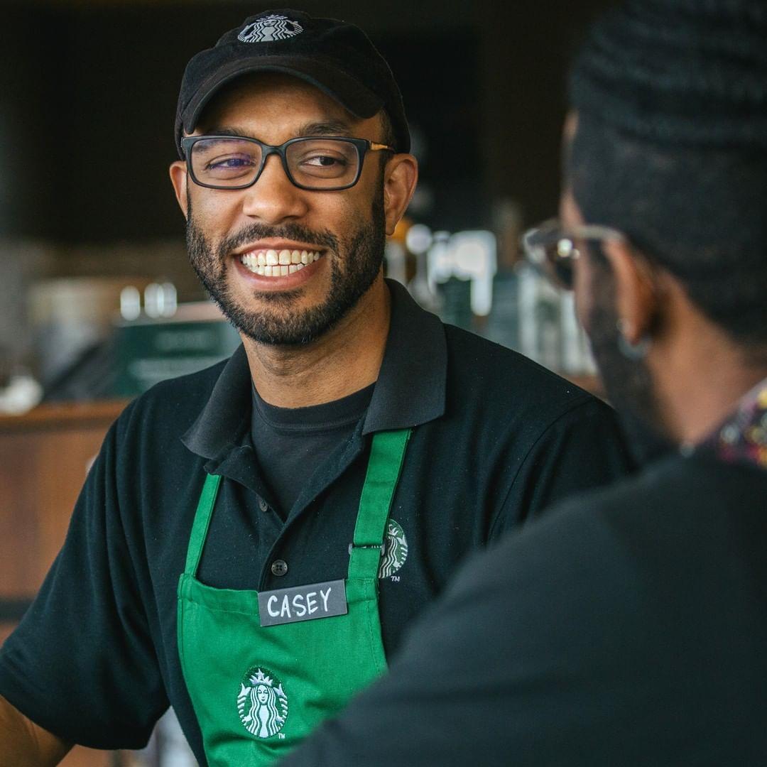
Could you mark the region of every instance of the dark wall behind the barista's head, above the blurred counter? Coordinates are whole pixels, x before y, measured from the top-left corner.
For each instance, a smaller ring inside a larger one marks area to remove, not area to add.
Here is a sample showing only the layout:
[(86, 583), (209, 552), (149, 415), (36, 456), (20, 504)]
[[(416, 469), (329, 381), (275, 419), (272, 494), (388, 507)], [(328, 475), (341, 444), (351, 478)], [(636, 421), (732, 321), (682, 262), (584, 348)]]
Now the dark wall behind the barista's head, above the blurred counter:
[[(357, 21), (390, 60), (426, 150), (422, 177), (433, 202), (420, 218), (446, 229), (488, 225), (491, 201), (502, 195), (521, 200), (531, 218), (553, 211), (570, 41), (602, 5), (303, 4)], [(175, 159), (183, 67), (257, 10), (193, 2), (8, 8), (0, 235), (180, 238), (166, 168)]]

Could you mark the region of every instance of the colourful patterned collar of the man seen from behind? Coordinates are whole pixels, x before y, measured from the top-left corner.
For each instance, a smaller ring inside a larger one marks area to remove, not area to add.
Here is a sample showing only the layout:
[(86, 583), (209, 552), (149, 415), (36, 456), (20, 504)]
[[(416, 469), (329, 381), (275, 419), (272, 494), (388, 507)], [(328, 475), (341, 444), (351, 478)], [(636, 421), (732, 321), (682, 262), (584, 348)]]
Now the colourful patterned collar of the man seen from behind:
[(698, 445), (727, 463), (767, 469), (767, 378), (746, 394), (722, 426)]

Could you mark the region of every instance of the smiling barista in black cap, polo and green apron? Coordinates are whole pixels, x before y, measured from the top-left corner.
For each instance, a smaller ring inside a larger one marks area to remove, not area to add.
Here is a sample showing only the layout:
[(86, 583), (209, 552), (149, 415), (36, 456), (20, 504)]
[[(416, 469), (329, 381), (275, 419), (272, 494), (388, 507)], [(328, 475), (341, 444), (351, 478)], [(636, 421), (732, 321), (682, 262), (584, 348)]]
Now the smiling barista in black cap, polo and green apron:
[(189, 62), (176, 141), (189, 258), (242, 347), (110, 430), (0, 653), (3, 765), (142, 746), (169, 703), (200, 764), (271, 763), (470, 551), (626, 466), (607, 406), (384, 280), (416, 160), (358, 28), (248, 18)]

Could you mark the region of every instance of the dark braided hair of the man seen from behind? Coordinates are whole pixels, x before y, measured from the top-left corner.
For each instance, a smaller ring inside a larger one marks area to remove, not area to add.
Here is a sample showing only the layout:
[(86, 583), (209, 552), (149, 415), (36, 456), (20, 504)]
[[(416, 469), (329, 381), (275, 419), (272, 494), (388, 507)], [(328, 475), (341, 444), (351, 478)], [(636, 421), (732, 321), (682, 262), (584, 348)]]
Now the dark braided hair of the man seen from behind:
[(733, 340), (767, 354), (767, 3), (630, 0), (571, 70), (568, 179)]

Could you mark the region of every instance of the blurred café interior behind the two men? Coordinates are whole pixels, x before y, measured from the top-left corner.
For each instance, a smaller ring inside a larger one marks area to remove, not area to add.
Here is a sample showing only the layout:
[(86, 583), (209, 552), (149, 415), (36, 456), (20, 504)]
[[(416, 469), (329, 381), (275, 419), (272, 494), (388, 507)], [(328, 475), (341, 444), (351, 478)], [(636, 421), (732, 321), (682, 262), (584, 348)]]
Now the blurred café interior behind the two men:
[[(610, 0), (305, 0), (367, 31), (420, 162), (387, 274), (445, 321), (597, 387), (570, 299), (520, 260), (553, 216), (565, 71)], [(0, 641), (63, 540), (88, 459), (128, 398), (229, 354), (186, 259), (167, 175), (186, 61), (271, 3), (19, 0), (0, 45)], [(35, 407), (37, 406), (37, 407)], [(191, 765), (170, 724), (142, 754)]]

